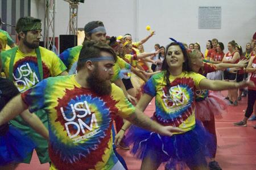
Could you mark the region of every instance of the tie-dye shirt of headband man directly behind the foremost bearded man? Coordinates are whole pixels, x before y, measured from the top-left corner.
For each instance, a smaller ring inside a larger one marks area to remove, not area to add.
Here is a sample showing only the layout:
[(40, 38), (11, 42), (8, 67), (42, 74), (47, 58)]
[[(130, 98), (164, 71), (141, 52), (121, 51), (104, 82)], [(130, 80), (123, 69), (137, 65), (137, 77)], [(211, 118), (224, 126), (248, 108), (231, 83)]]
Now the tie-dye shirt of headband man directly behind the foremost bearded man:
[[(67, 71), (69, 71), (73, 66), (73, 64), (78, 61), (81, 49), (82, 49), (82, 45), (75, 46), (73, 48), (64, 50), (64, 52), (62, 52), (59, 55), (61, 61), (63, 61), (64, 65), (68, 68)], [(112, 82), (115, 82), (115, 80), (119, 78), (120, 70), (121, 69), (118, 66), (118, 64), (115, 63), (115, 65), (113, 66), (114, 75), (112, 76), (112, 79), (111, 79)]]

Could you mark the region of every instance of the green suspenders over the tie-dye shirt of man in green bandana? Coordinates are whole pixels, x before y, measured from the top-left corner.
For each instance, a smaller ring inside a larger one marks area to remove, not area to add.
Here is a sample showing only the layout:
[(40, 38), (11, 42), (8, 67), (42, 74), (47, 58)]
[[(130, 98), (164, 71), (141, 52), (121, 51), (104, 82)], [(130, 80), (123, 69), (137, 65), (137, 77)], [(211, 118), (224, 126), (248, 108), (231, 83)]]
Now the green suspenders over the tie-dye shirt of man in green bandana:
[[(9, 80), (13, 81), (13, 66), (14, 66), (14, 59), (16, 56), (16, 52), (18, 50), (18, 46), (15, 46), (13, 48), (13, 53), (11, 53), (11, 60), (10, 60), (10, 66), (9, 66)], [(36, 48), (36, 58), (38, 59), (38, 70), (40, 75), (40, 81), (43, 80), (43, 63), (42, 63), (42, 57), (40, 53), (40, 49)]]

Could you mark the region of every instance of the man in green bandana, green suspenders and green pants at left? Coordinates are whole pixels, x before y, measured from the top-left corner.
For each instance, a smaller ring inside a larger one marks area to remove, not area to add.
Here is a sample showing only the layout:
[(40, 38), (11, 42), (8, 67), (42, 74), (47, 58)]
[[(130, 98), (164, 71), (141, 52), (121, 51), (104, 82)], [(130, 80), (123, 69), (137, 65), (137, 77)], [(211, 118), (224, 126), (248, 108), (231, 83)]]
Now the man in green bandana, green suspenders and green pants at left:
[[(52, 51), (39, 46), (42, 23), (40, 19), (30, 16), (20, 18), (16, 23), (19, 46), (1, 52), (2, 70), (7, 79), (14, 82), (19, 92), (24, 92), (49, 76), (67, 75), (67, 68)], [(48, 128), (47, 114), (43, 110), (35, 114)], [(10, 121), (11, 126), (28, 135), (36, 143), (36, 152), (40, 163), (50, 162), (48, 142), (22, 120), (20, 116)], [(30, 163), (33, 151), (23, 163)]]

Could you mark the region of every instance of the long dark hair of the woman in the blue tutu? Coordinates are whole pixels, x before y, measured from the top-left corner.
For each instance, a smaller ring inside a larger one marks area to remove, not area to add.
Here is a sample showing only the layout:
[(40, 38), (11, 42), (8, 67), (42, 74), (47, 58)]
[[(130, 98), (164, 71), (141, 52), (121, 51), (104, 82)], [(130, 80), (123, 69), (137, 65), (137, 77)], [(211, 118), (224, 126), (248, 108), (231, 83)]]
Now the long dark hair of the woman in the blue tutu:
[[(166, 82), (166, 86), (167, 86), (167, 93), (169, 94), (169, 90), (171, 88), (171, 84), (170, 84), (170, 80), (169, 80), (169, 77), (170, 77), (170, 70), (169, 70), (169, 66), (167, 64), (167, 61), (166, 61), (166, 56), (168, 54), (168, 49), (170, 48), (170, 46), (173, 46), (173, 45), (178, 45), (180, 46), (177, 42), (171, 42), (171, 44), (167, 45), (166, 46), (166, 53), (164, 54), (164, 60), (163, 60), (163, 65), (162, 65), (162, 71), (164, 73), (164, 82)], [(181, 47), (180, 47), (181, 48)], [(191, 66), (189, 65), (189, 56), (188, 56), (188, 52), (185, 48), (181, 48), (181, 51), (183, 53), (183, 56), (184, 56), (184, 63), (182, 65), (182, 71), (186, 71), (186, 72), (191, 72), (192, 69), (191, 69)]]

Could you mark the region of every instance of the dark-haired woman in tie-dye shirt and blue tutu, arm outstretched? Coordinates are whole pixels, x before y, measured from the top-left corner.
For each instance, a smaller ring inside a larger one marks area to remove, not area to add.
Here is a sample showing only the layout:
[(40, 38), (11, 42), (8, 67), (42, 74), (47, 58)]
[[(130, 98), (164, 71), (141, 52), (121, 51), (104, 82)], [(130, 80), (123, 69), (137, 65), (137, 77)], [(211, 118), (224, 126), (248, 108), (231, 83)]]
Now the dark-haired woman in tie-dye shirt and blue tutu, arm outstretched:
[[(161, 163), (168, 161), (167, 168), (177, 163), (181, 166), (187, 164), (191, 169), (207, 168), (205, 157), (212, 156), (206, 145), (212, 140), (201, 122), (195, 119), (195, 91), (224, 90), (246, 86), (247, 83), (208, 80), (192, 72), (187, 51), (180, 42), (172, 42), (166, 49), (162, 72), (153, 75), (145, 84), (137, 109), (144, 111), (155, 97), (156, 110), (152, 119), (164, 126), (179, 127), (185, 132), (166, 137), (132, 126), (127, 133), (127, 142), (133, 144), (131, 152), (142, 159), (141, 169), (157, 169)], [(125, 124), (122, 129), (127, 127)], [(120, 134), (116, 136), (117, 144), (121, 138)]]

